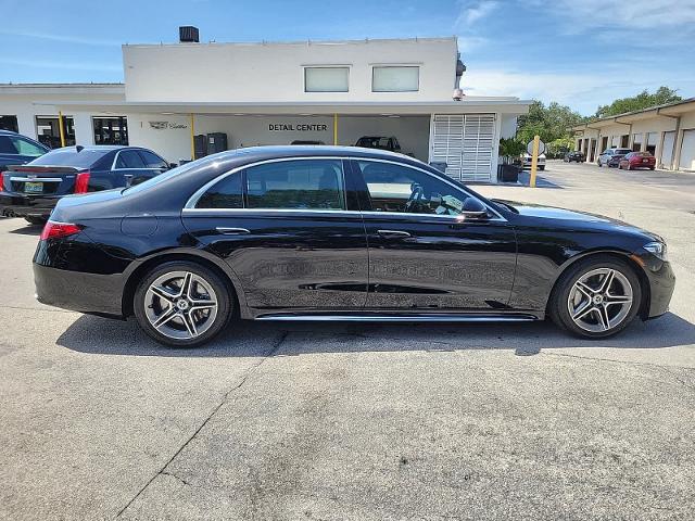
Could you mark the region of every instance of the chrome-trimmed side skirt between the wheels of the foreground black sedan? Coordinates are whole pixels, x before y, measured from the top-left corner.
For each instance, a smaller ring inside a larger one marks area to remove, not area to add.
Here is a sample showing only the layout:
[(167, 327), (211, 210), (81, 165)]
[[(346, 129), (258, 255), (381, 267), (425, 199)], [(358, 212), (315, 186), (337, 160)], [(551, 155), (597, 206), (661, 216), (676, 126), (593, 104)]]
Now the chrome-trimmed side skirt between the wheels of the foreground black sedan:
[(389, 315), (376, 313), (355, 314), (323, 314), (323, 315), (301, 315), (290, 313), (278, 313), (261, 315), (255, 320), (278, 320), (293, 322), (532, 322), (540, 320), (539, 317), (529, 314), (468, 314), (468, 315), (445, 315), (445, 314), (418, 314), (418, 315)]

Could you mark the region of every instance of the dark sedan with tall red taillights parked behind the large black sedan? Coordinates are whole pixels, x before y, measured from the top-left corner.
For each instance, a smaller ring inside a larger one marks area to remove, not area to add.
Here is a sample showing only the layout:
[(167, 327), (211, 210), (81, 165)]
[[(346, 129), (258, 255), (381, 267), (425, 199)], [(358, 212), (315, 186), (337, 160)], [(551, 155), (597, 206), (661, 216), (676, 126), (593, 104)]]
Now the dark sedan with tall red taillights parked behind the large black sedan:
[(45, 223), (55, 203), (75, 193), (138, 185), (169, 169), (138, 147), (66, 147), (0, 173), (0, 214)]

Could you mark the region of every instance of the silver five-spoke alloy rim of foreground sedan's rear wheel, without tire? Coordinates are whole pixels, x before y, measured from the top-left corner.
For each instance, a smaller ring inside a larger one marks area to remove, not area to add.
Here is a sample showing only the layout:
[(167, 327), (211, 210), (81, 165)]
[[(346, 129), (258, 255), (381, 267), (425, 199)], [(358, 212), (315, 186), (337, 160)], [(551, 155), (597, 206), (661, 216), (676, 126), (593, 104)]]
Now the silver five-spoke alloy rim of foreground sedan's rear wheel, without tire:
[(213, 285), (191, 271), (157, 277), (144, 295), (144, 315), (160, 333), (177, 340), (195, 339), (215, 322), (218, 302)]

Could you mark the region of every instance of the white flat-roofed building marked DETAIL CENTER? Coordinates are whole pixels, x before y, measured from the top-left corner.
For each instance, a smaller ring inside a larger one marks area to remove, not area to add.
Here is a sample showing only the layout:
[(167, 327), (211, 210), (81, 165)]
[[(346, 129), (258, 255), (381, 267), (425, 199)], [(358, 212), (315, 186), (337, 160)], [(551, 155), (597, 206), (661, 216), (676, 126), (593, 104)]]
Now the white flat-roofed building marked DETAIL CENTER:
[[(197, 38), (195, 38), (197, 39)], [(170, 162), (226, 148), (395, 137), (401, 152), (466, 181), (496, 182), (501, 137), (528, 101), (453, 99), (456, 38), (123, 47), (121, 84), (1, 85), (0, 127), (60, 145), (136, 144)], [(223, 141), (224, 144), (224, 141)]]

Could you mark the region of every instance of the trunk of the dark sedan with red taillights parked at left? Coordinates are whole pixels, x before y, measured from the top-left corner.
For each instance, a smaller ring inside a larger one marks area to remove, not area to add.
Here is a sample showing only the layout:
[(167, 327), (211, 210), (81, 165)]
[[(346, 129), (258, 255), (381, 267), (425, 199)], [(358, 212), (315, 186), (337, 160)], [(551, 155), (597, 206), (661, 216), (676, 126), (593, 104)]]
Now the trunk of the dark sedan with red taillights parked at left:
[(4, 173), (4, 191), (36, 196), (58, 196), (75, 193), (75, 183), (87, 168), (74, 166), (21, 166), (8, 167)]

